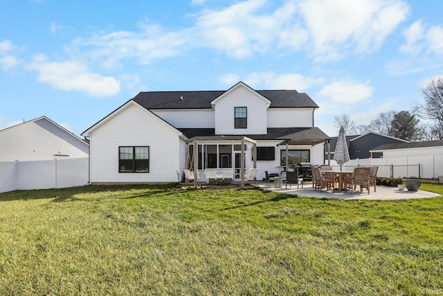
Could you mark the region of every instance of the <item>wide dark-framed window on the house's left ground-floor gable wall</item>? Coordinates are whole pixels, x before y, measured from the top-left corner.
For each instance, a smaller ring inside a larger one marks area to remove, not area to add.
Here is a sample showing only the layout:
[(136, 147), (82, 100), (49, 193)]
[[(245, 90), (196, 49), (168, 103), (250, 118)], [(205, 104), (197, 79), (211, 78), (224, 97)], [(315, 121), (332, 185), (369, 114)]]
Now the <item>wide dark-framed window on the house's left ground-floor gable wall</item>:
[(118, 147), (118, 173), (149, 173), (149, 146)]

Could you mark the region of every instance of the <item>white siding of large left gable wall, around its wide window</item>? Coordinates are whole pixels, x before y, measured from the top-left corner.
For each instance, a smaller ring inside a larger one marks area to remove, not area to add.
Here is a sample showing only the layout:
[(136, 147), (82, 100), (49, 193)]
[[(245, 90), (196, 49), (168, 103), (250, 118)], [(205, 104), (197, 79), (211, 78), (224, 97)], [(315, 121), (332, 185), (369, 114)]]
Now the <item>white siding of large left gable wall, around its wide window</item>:
[[(138, 105), (91, 135), (91, 182), (177, 182), (179, 132)], [(150, 146), (149, 173), (118, 173), (119, 146)]]

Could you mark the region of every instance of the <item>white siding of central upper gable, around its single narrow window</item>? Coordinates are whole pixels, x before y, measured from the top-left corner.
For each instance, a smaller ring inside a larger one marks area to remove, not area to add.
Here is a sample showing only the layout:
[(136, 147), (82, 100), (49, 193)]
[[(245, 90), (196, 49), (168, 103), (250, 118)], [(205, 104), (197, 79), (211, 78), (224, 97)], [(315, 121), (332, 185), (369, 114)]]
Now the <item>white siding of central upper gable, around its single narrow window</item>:
[[(247, 128), (234, 128), (234, 108), (247, 107)], [(215, 134), (266, 134), (266, 102), (237, 87), (215, 104)]]

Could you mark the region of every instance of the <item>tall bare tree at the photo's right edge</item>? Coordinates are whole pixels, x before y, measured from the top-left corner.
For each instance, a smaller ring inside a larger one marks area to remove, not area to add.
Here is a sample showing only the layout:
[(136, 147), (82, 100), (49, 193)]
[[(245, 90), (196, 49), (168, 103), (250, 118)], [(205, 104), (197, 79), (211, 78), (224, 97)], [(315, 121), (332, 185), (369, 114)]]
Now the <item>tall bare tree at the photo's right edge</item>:
[(443, 79), (431, 78), (431, 81), (422, 89), (424, 103), (418, 103), (414, 112), (422, 119), (433, 121), (431, 134), (443, 139)]

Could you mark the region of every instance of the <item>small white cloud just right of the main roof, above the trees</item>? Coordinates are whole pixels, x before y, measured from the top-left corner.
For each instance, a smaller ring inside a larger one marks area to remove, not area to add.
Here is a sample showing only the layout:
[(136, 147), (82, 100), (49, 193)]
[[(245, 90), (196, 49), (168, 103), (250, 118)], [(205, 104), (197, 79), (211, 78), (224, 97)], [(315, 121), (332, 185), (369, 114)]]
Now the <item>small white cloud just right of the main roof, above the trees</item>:
[(345, 103), (348, 107), (361, 103), (372, 96), (373, 89), (368, 82), (336, 81), (325, 85), (317, 96), (327, 98), (334, 103)]

